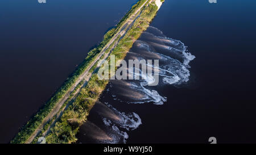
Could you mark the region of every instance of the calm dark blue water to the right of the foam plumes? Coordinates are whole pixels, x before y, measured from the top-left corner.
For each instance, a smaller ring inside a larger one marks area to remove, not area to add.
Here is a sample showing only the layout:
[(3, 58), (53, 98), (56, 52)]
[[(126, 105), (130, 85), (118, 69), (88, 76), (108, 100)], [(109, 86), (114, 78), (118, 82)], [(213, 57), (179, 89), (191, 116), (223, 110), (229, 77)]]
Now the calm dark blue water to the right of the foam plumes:
[[(131, 143), (145, 135), (152, 139), (137, 142), (208, 143), (215, 136), (218, 143), (256, 143), (255, 8), (249, 0), (164, 3), (151, 25), (183, 41), (196, 56), (193, 84), (163, 88), (170, 99), (160, 108), (168, 110), (154, 115), (159, 118), (154, 128), (134, 133)], [(145, 119), (142, 128), (148, 122), (152, 120)]]

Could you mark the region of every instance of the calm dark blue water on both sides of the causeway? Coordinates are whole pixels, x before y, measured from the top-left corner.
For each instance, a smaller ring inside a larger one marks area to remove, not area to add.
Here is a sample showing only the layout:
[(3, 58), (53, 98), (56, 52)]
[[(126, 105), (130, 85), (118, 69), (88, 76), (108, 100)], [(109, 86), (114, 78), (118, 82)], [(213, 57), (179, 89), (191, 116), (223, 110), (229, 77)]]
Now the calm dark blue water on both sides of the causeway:
[[(134, 2), (0, 2), (0, 143), (18, 133)], [(253, 0), (164, 2), (151, 26), (196, 56), (190, 81), (159, 89), (167, 97), (161, 106), (120, 103), (105, 91), (102, 102), (142, 119), (127, 143), (208, 143), (212, 136), (217, 143), (256, 143), (255, 8)]]

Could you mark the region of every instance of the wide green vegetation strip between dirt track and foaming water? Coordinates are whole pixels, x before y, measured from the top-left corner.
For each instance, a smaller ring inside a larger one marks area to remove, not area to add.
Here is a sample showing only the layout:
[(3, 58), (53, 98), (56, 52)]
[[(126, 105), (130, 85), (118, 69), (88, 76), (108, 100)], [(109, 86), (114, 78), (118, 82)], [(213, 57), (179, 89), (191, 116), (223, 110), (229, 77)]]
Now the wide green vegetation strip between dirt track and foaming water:
[[(125, 51), (129, 51), (134, 41), (147, 29), (157, 10), (158, 7), (154, 3), (143, 7), (141, 16), (135, 20), (130, 30), (119, 41), (117, 47), (113, 49), (111, 54), (115, 55), (116, 60), (125, 58)], [(107, 59), (109, 60), (109, 58)], [(108, 80), (99, 80), (97, 73), (93, 73), (88, 84), (82, 87), (75, 102), (64, 111), (55, 127), (51, 128), (51, 133), (46, 136), (47, 143), (75, 143), (80, 125), (86, 121), (86, 116), (88, 116), (94, 103), (100, 98), (107, 84)]]

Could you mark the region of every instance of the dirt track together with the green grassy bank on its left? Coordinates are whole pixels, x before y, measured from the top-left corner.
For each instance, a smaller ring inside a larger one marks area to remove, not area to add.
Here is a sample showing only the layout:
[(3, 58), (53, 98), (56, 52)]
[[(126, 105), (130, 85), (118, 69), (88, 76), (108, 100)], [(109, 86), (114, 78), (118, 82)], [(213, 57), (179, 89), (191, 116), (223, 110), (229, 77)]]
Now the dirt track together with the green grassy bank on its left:
[[(140, 0), (131, 7), (129, 12), (123, 16), (117, 26), (109, 30), (104, 35), (104, 40), (101, 41), (98, 47), (88, 52), (88, 56), (85, 58), (85, 61), (77, 67), (75, 72), (72, 73), (72, 76), (69, 77), (67, 81), (64, 82), (63, 86), (61, 86), (51, 99), (48, 100), (46, 106), (39, 110), (39, 112), (37, 112), (36, 115), (34, 115), (34, 117), (24, 125), (11, 143), (31, 143), (35, 140), (36, 136), (40, 135), (39, 133), (43, 131), (43, 128), (49, 122), (52, 122), (52, 119), (57, 115), (56, 113), (61, 112), (60, 109), (67, 108), (66, 106), (69, 105), (67, 101), (70, 98), (73, 98), (72, 93), (77, 90), (77, 86), (80, 85), (80, 82), (87, 78), (85, 75), (86, 72), (89, 72), (90, 69), (92, 69), (99, 57), (105, 55), (106, 52), (111, 51), (109, 50), (109, 47), (112, 46), (113, 42), (119, 37), (119, 35), (124, 35), (124, 33), (122, 34), (122, 29), (127, 29), (126, 23), (129, 22), (129, 19), (132, 18), (133, 15), (137, 15), (138, 11), (141, 11), (141, 8), (149, 1), (150, 0)], [(152, 2), (152, 0), (150, 2)], [(88, 81), (85, 81), (85, 83), (88, 83), (89, 81), (90, 78)], [(79, 89), (81, 89), (81, 87)], [(53, 114), (53, 112), (55, 113)]]

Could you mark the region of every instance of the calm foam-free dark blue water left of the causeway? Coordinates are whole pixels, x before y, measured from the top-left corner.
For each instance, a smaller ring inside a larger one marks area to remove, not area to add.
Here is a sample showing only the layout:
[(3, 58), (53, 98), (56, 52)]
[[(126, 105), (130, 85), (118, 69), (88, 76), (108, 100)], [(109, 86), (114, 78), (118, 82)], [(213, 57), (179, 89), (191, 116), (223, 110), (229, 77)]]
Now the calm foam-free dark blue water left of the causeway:
[(18, 133), (135, 2), (0, 2), (0, 143)]

